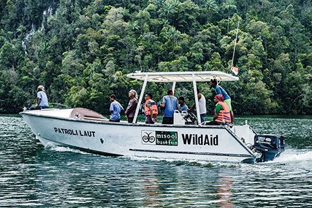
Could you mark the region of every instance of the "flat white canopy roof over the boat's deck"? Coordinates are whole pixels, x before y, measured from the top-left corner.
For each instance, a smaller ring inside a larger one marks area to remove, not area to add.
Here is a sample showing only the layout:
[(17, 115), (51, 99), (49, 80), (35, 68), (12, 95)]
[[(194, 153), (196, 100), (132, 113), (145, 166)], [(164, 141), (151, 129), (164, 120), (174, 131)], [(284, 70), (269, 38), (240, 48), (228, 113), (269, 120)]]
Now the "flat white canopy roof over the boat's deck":
[(218, 81), (236, 81), (238, 77), (222, 71), (178, 71), (178, 72), (135, 72), (129, 73), (128, 78), (145, 80), (148, 76), (148, 82), (153, 83), (173, 83), (173, 82), (193, 82), (193, 75), (196, 82), (209, 82), (216, 78)]

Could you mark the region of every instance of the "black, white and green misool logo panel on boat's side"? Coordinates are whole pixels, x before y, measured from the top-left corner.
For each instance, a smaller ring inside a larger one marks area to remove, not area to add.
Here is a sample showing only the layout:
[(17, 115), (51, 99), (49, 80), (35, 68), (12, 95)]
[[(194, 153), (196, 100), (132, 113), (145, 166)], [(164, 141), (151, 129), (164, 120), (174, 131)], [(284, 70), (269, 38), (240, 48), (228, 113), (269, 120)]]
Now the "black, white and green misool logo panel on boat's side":
[(177, 132), (141, 131), (142, 144), (177, 146)]

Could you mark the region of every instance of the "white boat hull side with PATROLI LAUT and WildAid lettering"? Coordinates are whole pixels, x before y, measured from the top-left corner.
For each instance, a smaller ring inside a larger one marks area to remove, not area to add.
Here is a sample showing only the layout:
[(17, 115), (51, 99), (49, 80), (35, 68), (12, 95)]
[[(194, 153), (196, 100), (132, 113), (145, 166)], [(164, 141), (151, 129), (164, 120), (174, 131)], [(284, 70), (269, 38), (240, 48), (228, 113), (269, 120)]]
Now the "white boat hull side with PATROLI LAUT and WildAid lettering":
[(62, 118), (22, 112), (42, 144), (67, 146), (100, 155), (218, 162), (254, 162), (252, 151), (229, 128), (148, 125)]

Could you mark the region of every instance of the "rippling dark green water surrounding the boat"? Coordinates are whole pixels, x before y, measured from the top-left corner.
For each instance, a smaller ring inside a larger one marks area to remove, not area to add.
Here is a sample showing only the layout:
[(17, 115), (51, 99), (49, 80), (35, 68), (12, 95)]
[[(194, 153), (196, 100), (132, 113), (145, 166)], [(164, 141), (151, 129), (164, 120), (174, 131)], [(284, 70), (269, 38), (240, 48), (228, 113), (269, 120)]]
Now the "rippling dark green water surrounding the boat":
[(245, 116), (286, 150), (263, 164), (104, 157), (44, 148), (0, 116), (0, 207), (312, 207), (311, 116)]

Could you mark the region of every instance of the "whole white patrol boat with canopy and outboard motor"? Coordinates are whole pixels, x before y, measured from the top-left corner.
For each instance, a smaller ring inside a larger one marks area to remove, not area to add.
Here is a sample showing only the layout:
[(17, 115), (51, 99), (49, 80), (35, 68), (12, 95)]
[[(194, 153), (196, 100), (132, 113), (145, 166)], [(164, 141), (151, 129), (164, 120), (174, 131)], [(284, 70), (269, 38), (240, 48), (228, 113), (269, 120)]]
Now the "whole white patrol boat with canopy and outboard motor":
[[(199, 124), (187, 124), (186, 112), (178, 111), (174, 114), (173, 125), (139, 123), (139, 105), (134, 123), (110, 122), (101, 114), (80, 107), (66, 110), (26, 110), (20, 114), (42, 144), (66, 146), (100, 155), (253, 163), (263, 155), (259, 155), (254, 149), (255, 138), (258, 138), (257, 144), (263, 145), (277, 138), (277, 147), (284, 148), (279, 137), (259, 137), (247, 124), (234, 125), (231, 128), (229, 125), (200, 123), (196, 83), (208, 82), (211, 78), (222, 81), (239, 80), (235, 76), (220, 71), (188, 71), (139, 72), (130, 73), (128, 77), (144, 80), (139, 103), (143, 100), (148, 82), (173, 83), (173, 92), (175, 83), (192, 82)], [(280, 151), (272, 157), (279, 153)]]

